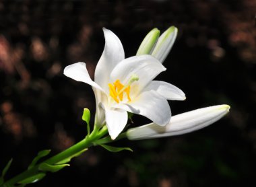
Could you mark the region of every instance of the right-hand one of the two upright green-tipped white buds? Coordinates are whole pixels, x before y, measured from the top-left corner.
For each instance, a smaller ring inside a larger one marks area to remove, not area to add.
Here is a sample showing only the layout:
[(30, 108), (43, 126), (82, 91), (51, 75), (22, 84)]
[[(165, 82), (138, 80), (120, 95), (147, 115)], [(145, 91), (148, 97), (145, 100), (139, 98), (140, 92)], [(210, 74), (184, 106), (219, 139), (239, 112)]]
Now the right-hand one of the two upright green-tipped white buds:
[(172, 48), (174, 41), (177, 37), (178, 29), (174, 26), (168, 28), (158, 39), (154, 50), (152, 51), (152, 56), (156, 57), (161, 63), (164, 62), (167, 55)]

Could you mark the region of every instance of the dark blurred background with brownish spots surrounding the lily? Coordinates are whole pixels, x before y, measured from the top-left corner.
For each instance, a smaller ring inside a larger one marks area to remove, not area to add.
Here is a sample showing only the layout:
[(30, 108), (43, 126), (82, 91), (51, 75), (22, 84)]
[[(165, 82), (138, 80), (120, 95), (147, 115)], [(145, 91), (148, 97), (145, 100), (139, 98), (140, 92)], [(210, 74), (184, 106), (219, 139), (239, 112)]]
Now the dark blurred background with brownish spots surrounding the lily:
[(0, 1), (1, 170), (13, 157), (11, 178), (38, 151), (53, 155), (84, 138), (82, 111), (94, 115), (94, 94), (63, 69), (83, 61), (94, 76), (102, 27), (131, 57), (152, 28), (176, 26), (167, 71), (157, 77), (187, 96), (170, 102), (172, 114), (217, 104), (230, 113), (187, 135), (113, 144), (133, 153), (92, 147), (34, 186), (256, 186), (255, 13), (251, 0)]

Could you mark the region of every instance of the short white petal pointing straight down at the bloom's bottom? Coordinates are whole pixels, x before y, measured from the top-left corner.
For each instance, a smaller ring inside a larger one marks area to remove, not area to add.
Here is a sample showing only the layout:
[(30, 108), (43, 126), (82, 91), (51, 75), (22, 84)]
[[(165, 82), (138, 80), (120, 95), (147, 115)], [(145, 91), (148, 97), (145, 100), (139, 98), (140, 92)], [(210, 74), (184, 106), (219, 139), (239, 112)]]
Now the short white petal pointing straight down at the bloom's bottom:
[(116, 139), (127, 124), (128, 114), (125, 110), (108, 108), (101, 105), (105, 111), (106, 126), (111, 139)]

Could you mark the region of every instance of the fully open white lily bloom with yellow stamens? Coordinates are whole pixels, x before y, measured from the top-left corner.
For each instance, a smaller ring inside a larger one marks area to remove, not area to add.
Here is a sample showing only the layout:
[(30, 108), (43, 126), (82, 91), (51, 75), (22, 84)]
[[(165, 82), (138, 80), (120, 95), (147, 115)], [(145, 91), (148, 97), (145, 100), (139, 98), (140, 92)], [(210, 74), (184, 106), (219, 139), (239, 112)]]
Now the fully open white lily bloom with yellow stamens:
[(170, 121), (167, 100), (185, 100), (181, 89), (163, 81), (152, 81), (166, 68), (151, 55), (125, 59), (119, 38), (103, 28), (105, 47), (96, 66), (94, 81), (85, 63), (65, 67), (64, 74), (92, 86), (96, 97), (98, 126), (106, 123), (108, 133), (115, 139), (127, 124), (127, 112), (146, 116), (164, 126)]

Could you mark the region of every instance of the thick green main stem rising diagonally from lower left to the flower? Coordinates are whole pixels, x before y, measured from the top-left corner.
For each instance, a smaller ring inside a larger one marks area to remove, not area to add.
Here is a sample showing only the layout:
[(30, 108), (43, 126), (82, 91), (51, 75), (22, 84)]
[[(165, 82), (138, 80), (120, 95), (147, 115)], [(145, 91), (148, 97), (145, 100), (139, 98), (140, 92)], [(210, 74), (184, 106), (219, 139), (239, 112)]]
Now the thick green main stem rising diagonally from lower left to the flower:
[[(68, 149), (65, 149), (61, 153), (58, 153), (57, 155), (46, 159), (45, 161), (42, 161), (41, 163), (48, 163), (49, 165), (55, 165), (59, 161), (62, 161), (63, 159), (67, 159), (69, 157), (72, 157), (76, 153), (79, 153), (80, 151), (91, 147), (94, 141), (100, 139), (107, 133), (107, 128), (103, 127), (102, 129), (99, 129), (98, 127), (94, 126), (94, 130), (90, 134), (90, 136), (87, 136), (82, 141), (79, 141), (75, 145), (69, 147)], [(34, 165), (34, 167), (30, 168), (30, 170), (26, 170), (25, 172), (22, 172), (21, 174), (18, 174), (18, 176), (15, 176), (11, 178), (10, 180), (7, 180), (3, 186), (14, 186), (18, 182), (25, 180), (26, 178), (29, 178), (31, 176), (34, 176), (35, 174), (38, 174), (41, 172), (38, 167), (41, 164)]]

